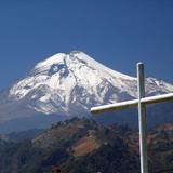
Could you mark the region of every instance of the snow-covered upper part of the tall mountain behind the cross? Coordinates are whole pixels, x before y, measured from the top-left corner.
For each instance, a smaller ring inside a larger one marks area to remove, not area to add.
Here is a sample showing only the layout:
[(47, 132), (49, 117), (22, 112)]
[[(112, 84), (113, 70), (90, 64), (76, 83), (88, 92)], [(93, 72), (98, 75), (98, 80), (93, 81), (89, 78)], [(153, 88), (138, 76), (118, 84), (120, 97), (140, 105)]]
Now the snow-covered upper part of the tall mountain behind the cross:
[[(146, 80), (148, 95), (170, 91), (171, 84)], [(91, 106), (136, 97), (136, 78), (115, 71), (83, 52), (58, 53), (38, 63), (10, 89), (9, 96), (43, 114), (88, 114)]]

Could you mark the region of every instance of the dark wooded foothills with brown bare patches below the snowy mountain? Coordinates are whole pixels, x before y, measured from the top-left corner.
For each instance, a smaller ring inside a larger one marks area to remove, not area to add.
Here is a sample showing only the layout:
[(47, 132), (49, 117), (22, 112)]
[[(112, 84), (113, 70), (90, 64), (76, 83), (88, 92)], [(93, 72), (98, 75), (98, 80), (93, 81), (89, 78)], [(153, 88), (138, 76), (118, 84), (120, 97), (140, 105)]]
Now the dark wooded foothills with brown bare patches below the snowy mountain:
[[(117, 124), (72, 118), (38, 132), (1, 136), (1, 173), (139, 173), (138, 133)], [(148, 135), (149, 172), (173, 171), (173, 123)]]

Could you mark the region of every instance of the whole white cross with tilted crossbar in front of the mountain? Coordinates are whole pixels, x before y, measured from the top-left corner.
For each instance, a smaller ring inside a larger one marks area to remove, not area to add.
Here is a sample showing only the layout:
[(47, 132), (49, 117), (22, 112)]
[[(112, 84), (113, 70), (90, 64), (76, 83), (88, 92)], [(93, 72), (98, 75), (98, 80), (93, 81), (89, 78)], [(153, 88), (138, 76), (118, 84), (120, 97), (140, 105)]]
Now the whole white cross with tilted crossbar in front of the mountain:
[(163, 94), (158, 96), (145, 97), (145, 77), (144, 77), (144, 64), (137, 64), (137, 91), (138, 98), (104, 105), (98, 107), (92, 107), (91, 112), (105, 112), (117, 109), (123, 109), (129, 107), (135, 107), (138, 105), (138, 125), (139, 125), (139, 151), (141, 151), (141, 173), (148, 173), (148, 161), (147, 161), (147, 133), (146, 133), (146, 105), (156, 104), (165, 101), (173, 101), (173, 93)]

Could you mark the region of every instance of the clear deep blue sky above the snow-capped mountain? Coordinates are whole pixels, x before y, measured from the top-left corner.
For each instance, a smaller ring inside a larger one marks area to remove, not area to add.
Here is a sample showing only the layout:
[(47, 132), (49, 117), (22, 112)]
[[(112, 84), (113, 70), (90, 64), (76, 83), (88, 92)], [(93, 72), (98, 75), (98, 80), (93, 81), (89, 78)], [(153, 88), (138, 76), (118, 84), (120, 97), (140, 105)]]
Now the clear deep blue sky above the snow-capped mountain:
[(172, 0), (0, 0), (0, 89), (58, 52), (173, 83)]

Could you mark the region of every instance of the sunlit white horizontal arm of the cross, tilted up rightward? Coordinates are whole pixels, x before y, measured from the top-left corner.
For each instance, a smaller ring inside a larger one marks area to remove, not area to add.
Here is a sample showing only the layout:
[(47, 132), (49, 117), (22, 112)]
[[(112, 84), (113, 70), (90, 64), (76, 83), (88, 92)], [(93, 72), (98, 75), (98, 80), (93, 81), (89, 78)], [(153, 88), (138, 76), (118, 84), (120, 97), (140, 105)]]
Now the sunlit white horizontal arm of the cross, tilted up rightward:
[[(164, 101), (173, 101), (173, 93), (144, 97), (141, 99), (141, 103), (142, 104), (156, 104), (156, 103), (160, 103)], [(138, 105), (138, 99), (132, 99), (132, 101), (120, 102), (120, 103), (110, 104), (110, 105), (92, 107), (91, 112), (92, 114), (106, 112), (106, 111), (111, 111), (111, 110), (135, 107), (137, 105)]]

